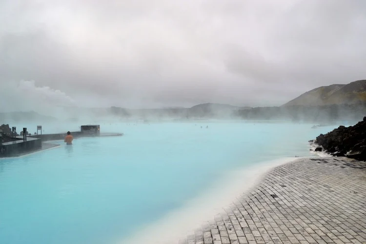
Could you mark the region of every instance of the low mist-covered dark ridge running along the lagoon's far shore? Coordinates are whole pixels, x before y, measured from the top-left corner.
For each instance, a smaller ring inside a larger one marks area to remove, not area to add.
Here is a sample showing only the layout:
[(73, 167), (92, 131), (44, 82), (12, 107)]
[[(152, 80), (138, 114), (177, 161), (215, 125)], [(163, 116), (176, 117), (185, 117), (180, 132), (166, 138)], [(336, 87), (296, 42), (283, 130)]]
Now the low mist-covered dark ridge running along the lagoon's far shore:
[[(357, 84), (356, 84), (357, 85)], [(346, 85), (332, 85), (323, 91), (328, 96)], [(352, 89), (352, 87), (346, 87)], [(241, 107), (229, 104), (203, 103), (190, 108), (127, 109), (122, 107), (80, 108), (66, 107), (60, 111), (62, 119), (43, 116), (36, 112), (0, 113), (0, 122), (111, 122), (111, 121), (188, 121), (188, 120), (264, 120), (293, 122), (359, 121), (366, 115), (366, 102), (330, 105), (286, 105), (280, 107)], [(65, 116), (67, 115), (67, 116)]]

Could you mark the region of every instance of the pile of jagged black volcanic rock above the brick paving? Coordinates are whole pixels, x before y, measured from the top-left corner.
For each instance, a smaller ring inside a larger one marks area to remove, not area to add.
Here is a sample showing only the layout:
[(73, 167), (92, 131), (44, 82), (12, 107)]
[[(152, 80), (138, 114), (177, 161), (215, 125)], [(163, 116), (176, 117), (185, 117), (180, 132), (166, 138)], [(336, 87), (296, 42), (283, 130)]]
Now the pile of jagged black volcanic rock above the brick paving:
[(315, 141), (334, 156), (346, 156), (366, 161), (366, 117), (354, 126), (339, 126), (319, 135)]

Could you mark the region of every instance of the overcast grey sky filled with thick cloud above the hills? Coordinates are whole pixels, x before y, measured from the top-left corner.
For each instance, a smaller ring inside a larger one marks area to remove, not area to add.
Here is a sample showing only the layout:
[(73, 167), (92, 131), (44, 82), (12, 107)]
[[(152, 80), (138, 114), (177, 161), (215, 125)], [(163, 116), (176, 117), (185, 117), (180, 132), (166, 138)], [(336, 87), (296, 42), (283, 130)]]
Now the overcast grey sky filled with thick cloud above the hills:
[(0, 0), (0, 103), (281, 105), (366, 78), (366, 0)]

